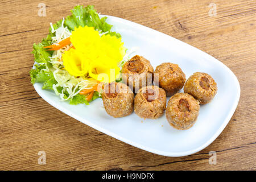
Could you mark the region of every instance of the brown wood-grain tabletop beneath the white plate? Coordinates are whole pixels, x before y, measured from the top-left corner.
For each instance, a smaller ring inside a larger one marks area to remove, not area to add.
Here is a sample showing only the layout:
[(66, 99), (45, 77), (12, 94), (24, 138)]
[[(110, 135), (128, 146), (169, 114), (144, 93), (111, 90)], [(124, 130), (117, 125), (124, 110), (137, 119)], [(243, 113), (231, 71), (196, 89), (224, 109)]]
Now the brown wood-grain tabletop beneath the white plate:
[[(38, 15), (41, 2), (0, 3), (0, 169), (256, 169), (255, 1), (47, 0), (45, 17)], [(216, 5), (215, 16), (210, 3)], [(49, 22), (69, 15), (77, 4), (95, 5), (101, 14), (171, 35), (227, 65), (240, 81), (241, 98), (221, 135), (190, 156), (155, 155), (94, 130), (40, 98), (28, 73), (32, 44), (47, 35)], [(46, 152), (46, 165), (38, 164), (39, 151)], [(209, 164), (209, 151), (217, 152), (216, 165)]]

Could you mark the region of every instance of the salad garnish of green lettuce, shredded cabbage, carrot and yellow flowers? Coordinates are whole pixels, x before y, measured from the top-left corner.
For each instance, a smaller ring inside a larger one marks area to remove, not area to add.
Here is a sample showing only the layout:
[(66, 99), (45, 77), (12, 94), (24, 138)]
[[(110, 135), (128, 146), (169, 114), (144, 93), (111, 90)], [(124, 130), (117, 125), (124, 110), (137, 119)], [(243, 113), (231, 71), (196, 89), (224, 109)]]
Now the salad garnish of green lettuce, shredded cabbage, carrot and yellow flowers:
[(42, 82), (43, 89), (53, 90), (69, 104), (88, 105), (100, 97), (99, 85), (122, 80), (119, 71), (128, 56), (121, 35), (111, 31), (112, 25), (93, 6), (79, 5), (71, 13), (50, 23), (47, 38), (33, 45), (31, 82)]

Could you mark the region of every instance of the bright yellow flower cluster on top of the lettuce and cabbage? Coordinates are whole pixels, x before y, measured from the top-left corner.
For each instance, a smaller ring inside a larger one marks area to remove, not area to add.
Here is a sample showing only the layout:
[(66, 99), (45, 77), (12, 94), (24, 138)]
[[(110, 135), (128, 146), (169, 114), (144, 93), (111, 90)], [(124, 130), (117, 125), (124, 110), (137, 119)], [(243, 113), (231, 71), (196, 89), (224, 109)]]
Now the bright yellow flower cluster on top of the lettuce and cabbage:
[(118, 63), (125, 56), (121, 38), (102, 35), (93, 27), (79, 27), (72, 31), (71, 43), (75, 49), (63, 54), (65, 69), (74, 76), (90, 77), (103, 82), (115, 81), (119, 75)]

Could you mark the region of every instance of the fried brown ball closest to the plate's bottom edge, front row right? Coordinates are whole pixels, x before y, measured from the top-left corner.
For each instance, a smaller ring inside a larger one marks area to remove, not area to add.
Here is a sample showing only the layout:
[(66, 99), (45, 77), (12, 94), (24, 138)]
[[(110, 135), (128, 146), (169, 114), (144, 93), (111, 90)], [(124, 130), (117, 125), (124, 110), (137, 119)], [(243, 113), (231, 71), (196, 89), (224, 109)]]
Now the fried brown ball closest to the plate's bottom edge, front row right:
[(187, 130), (194, 125), (199, 114), (200, 105), (188, 93), (176, 93), (168, 101), (166, 119), (178, 130)]

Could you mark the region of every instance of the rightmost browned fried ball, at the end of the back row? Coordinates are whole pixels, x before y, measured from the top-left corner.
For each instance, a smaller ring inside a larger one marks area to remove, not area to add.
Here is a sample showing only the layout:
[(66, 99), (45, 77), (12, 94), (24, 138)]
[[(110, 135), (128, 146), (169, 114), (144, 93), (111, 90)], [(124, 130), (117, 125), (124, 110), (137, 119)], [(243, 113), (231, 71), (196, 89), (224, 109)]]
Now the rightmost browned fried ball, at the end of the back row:
[(184, 92), (191, 94), (200, 104), (207, 104), (217, 93), (217, 84), (207, 73), (196, 72), (188, 78)]

